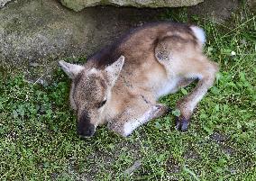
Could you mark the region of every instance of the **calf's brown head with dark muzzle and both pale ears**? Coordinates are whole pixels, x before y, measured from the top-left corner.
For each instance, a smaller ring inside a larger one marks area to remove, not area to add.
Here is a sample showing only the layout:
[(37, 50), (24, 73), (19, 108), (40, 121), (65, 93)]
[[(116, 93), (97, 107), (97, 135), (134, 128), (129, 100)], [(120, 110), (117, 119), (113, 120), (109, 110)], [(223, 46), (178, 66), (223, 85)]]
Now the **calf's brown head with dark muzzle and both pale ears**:
[(105, 120), (105, 110), (109, 106), (111, 89), (123, 68), (124, 57), (121, 56), (105, 69), (87, 68), (70, 64), (63, 60), (59, 66), (72, 79), (70, 104), (77, 111), (78, 134), (90, 137), (96, 126)]

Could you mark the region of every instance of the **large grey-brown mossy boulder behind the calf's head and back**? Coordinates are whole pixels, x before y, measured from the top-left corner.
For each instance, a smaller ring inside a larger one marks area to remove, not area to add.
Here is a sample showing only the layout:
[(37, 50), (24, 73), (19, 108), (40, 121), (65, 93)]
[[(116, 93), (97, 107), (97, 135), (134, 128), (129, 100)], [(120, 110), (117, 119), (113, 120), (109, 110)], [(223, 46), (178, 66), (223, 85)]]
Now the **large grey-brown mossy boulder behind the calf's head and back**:
[(0, 66), (43, 72), (61, 58), (87, 57), (160, 11), (108, 6), (75, 13), (55, 0), (12, 1), (0, 10)]

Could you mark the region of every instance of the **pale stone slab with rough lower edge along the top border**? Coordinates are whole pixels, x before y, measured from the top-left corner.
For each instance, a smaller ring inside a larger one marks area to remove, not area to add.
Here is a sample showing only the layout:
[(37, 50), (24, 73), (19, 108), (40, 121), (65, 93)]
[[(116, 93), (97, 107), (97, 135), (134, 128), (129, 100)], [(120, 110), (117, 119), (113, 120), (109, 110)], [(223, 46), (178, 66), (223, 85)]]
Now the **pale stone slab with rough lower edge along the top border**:
[(197, 5), (204, 0), (60, 0), (70, 9), (80, 11), (96, 5), (117, 5), (134, 7), (179, 7)]

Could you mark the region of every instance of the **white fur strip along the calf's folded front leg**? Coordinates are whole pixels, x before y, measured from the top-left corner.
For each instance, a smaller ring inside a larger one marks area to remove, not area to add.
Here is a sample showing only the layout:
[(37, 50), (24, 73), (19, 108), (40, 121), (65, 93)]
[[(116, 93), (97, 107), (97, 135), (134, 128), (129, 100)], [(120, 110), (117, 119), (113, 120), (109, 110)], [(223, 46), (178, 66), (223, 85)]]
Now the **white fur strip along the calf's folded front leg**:
[(144, 113), (142, 117), (130, 122), (125, 122), (123, 125), (123, 136), (128, 136), (133, 132), (133, 130), (141, 126), (143, 123), (149, 122), (151, 120), (152, 114), (157, 111), (157, 109), (158, 108), (156, 106), (153, 106), (149, 111)]

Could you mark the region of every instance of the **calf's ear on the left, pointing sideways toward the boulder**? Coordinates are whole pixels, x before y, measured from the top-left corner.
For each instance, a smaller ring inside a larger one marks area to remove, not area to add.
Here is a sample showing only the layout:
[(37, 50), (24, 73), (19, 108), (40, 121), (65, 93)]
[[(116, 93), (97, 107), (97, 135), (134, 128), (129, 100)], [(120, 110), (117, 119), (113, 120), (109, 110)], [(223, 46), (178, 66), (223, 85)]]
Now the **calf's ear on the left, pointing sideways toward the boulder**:
[(59, 61), (59, 66), (61, 69), (64, 70), (64, 72), (69, 76), (69, 78), (72, 78), (72, 79), (75, 78), (78, 75), (78, 73), (84, 69), (83, 66), (70, 64), (64, 60)]

